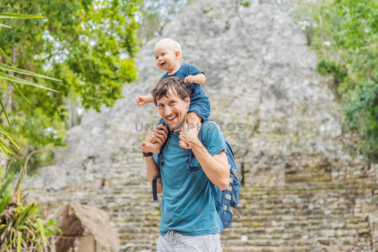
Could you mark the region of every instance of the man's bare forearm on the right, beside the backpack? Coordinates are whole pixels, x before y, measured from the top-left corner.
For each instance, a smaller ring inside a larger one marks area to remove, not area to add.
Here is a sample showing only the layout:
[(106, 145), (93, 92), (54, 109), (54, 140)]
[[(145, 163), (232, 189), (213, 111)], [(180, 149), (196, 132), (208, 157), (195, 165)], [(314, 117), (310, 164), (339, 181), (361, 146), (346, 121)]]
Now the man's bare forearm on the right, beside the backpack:
[[(214, 156), (211, 156), (198, 139), (189, 145), (208, 179), (219, 189), (225, 190), (229, 183), (228, 166), (217, 161)], [(224, 155), (226, 156), (226, 153)], [(227, 162), (227, 156), (224, 162)]]

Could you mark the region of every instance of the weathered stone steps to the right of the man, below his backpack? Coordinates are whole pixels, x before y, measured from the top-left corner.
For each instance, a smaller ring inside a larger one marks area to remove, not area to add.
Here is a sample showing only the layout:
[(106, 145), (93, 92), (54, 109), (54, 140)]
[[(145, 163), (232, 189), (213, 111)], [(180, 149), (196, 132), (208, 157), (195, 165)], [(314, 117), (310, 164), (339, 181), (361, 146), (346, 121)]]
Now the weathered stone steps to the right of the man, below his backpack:
[(222, 232), (225, 251), (374, 251), (359, 210), (372, 204), (376, 189), (327, 183), (243, 189), (243, 220)]

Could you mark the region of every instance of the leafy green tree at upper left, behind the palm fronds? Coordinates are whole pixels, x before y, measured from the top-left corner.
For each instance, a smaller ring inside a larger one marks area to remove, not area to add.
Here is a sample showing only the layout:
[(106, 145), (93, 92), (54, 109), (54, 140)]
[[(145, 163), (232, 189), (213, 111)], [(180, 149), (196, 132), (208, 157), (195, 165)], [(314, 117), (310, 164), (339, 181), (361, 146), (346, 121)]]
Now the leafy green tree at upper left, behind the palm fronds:
[[(0, 80), (6, 111), (12, 117), (22, 149), (14, 159), (19, 167), (28, 153), (64, 144), (68, 104), (85, 110), (113, 106), (122, 97), (124, 82), (136, 78), (133, 57), (137, 51), (136, 14), (140, 0), (3, 0), (0, 12), (48, 13), (48, 19), (15, 19), (0, 27), (0, 47), (21, 69), (43, 72), (63, 80), (52, 83), (15, 73), (15, 77), (59, 90), (60, 94), (33, 87), (22, 87), (23, 97), (15, 95), (9, 83)], [(1, 21), (1, 20), (0, 20)], [(0, 62), (6, 63), (5, 57)], [(36, 155), (31, 166), (44, 165), (52, 152)]]

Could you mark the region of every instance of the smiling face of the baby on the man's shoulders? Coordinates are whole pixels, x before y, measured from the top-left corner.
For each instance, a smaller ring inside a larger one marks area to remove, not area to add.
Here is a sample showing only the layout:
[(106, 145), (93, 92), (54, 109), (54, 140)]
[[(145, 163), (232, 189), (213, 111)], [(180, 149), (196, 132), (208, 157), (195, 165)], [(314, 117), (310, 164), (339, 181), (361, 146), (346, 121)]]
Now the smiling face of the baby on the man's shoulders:
[(163, 43), (155, 46), (153, 49), (153, 55), (155, 56), (158, 68), (167, 72), (180, 63), (172, 46), (167, 46)]

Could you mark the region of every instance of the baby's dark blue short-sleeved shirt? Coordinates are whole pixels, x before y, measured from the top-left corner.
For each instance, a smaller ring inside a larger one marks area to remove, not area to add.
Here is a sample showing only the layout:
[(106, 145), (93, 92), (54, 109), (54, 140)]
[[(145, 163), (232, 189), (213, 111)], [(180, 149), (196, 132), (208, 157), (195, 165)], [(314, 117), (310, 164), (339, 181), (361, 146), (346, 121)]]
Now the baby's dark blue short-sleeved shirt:
[[(163, 75), (163, 77), (161, 77), (161, 79), (175, 76), (175, 77), (180, 77), (181, 79), (184, 80), (185, 77), (188, 75), (197, 75), (200, 73), (205, 74), (203, 71), (199, 70), (197, 67), (193, 65), (184, 64), (180, 66), (180, 68), (176, 71), (176, 73), (171, 74), (171, 75), (168, 75), (168, 73), (166, 73)], [(191, 83), (191, 82), (188, 82), (186, 84), (190, 87), (190, 90), (191, 90), (191, 95), (190, 95), (191, 102), (200, 100), (203, 98), (209, 99), (209, 97), (206, 96), (205, 92), (202, 90), (201, 85), (197, 83)]]

